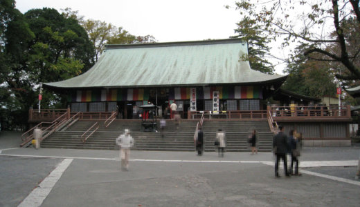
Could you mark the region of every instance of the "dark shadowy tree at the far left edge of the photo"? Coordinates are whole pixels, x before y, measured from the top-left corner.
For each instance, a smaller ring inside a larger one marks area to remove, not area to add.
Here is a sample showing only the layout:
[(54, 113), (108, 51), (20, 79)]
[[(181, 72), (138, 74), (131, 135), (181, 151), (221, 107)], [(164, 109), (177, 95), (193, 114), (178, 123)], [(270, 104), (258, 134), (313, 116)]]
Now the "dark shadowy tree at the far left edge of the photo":
[(24, 128), (24, 100), (31, 91), (21, 79), (26, 79), (28, 41), (35, 35), (28, 28), (24, 15), (15, 8), (15, 1), (0, 3), (0, 122), (1, 130)]

